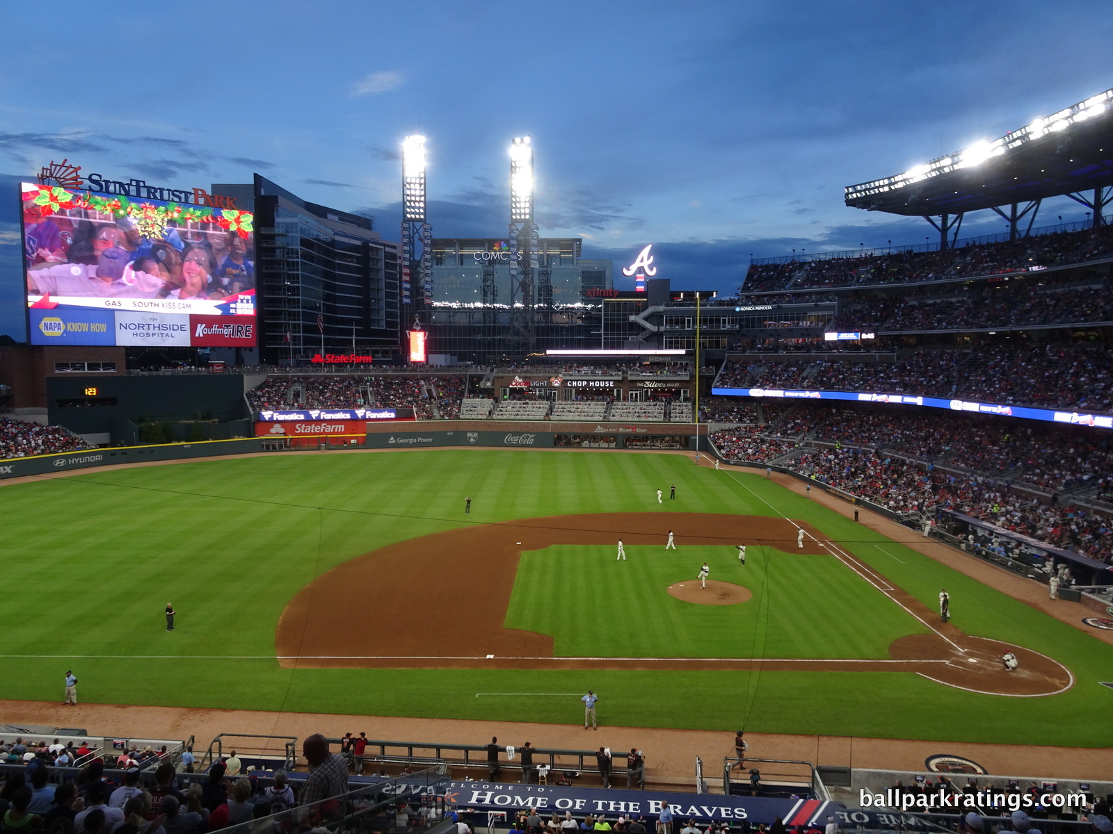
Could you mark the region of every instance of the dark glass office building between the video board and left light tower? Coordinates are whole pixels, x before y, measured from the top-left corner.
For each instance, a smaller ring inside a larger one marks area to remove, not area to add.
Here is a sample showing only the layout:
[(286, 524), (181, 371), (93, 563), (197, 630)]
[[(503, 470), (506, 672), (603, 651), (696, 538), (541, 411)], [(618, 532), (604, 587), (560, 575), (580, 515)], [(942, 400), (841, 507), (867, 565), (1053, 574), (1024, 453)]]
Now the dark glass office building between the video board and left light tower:
[(262, 361), (397, 353), (398, 245), (382, 239), (373, 218), (303, 200), (259, 175), (253, 186), (214, 190), (254, 200)]

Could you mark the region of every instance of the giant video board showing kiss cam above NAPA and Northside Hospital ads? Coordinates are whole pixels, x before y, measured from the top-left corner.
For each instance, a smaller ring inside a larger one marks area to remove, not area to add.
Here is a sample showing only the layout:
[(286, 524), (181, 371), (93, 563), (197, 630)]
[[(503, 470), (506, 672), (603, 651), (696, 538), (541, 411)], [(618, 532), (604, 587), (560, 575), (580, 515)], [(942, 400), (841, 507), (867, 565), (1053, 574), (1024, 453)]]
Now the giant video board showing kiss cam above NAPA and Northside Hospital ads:
[(20, 188), (32, 345), (255, 346), (249, 211)]

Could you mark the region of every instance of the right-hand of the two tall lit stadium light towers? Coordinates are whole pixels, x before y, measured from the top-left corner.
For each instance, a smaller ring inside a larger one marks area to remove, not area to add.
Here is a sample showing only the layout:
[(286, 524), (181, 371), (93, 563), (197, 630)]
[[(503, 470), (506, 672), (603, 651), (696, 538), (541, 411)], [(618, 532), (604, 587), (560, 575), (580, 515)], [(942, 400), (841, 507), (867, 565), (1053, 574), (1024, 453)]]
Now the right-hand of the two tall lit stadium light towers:
[(510, 309), (515, 334), (534, 345), (533, 279), (538, 272), (538, 226), (533, 222), (533, 145), (515, 137), (510, 146)]

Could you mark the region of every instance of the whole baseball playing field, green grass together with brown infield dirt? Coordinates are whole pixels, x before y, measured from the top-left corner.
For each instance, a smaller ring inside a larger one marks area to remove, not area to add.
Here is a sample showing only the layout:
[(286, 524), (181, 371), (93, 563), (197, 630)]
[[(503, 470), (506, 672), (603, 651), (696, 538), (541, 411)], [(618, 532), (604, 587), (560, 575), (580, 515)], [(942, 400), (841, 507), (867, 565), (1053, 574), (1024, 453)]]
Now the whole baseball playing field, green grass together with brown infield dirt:
[(575, 724), (591, 688), (609, 725), (1113, 745), (1113, 646), (690, 456), (215, 458), (0, 517), (2, 698), (72, 668), (85, 702)]

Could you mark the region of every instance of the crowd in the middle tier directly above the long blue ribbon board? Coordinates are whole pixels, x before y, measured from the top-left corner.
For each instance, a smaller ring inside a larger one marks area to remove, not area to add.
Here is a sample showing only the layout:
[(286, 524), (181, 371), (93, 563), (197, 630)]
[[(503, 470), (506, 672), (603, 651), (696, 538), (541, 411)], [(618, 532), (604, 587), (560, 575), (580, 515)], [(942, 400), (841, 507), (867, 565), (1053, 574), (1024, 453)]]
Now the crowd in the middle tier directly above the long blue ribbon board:
[(719, 387), (846, 390), (1113, 410), (1113, 350), (1101, 346), (922, 350), (900, 363), (728, 360)]

